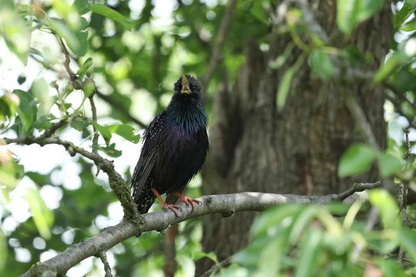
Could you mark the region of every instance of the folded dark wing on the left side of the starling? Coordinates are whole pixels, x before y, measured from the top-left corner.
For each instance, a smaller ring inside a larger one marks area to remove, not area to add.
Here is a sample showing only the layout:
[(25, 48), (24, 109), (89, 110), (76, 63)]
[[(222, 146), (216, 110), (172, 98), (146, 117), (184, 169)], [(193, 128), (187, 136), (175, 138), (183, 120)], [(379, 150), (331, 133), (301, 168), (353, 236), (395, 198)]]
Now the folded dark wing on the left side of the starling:
[(139, 193), (141, 193), (141, 190), (143, 190), (144, 186), (146, 185), (150, 172), (152, 172), (153, 166), (155, 166), (158, 155), (157, 148), (161, 142), (161, 134), (165, 127), (165, 118), (166, 112), (162, 111), (155, 117), (155, 119), (153, 119), (153, 121), (144, 131), (143, 148), (141, 148), (140, 158), (132, 176), (131, 186), (133, 187), (134, 199), (139, 197)]

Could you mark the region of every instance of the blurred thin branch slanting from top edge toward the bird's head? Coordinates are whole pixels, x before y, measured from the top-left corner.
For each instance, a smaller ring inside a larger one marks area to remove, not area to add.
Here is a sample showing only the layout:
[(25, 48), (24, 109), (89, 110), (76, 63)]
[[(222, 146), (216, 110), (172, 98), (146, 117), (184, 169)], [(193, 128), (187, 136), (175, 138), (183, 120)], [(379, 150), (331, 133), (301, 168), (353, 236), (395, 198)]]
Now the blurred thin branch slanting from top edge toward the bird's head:
[(211, 82), (212, 76), (214, 75), (218, 62), (220, 62), (220, 60), (222, 59), (221, 51), (223, 51), (225, 37), (227, 37), (228, 28), (231, 24), (232, 13), (234, 12), (236, 3), (237, 0), (231, 0), (227, 8), (225, 9), (223, 20), (221, 21), (221, 25), (216, 36), (216, 43), (214, 48), (212, 49), (211, 58), (209, 59), (207, 72), (205, 73), (205, 77), (202, 82), (202, 96), (206, 95), (209, 83)]

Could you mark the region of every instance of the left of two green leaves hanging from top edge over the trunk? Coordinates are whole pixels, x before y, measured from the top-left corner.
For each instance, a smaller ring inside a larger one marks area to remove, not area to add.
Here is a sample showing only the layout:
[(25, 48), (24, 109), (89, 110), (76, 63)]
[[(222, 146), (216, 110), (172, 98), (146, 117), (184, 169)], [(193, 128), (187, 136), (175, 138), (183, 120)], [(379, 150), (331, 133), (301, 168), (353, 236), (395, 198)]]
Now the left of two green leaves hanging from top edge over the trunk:
[(361, 0), (338, 0), (336, 9), (336, 23), (345, 35), (351, 34), (358, 23), (358, 12)]

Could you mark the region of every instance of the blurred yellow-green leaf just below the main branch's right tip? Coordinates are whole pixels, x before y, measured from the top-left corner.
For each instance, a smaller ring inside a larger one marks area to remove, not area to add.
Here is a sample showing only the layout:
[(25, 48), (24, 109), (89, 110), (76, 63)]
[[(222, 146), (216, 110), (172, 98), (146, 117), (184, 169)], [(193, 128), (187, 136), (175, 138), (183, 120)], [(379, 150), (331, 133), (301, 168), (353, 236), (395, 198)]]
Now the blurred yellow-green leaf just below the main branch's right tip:
[(395, 199), (386, 190), (370, 191), (370, 203), (379, 208), (381, 220), (385, 229), (401, 228), (401, 220), (397, 211), (397, 203)]

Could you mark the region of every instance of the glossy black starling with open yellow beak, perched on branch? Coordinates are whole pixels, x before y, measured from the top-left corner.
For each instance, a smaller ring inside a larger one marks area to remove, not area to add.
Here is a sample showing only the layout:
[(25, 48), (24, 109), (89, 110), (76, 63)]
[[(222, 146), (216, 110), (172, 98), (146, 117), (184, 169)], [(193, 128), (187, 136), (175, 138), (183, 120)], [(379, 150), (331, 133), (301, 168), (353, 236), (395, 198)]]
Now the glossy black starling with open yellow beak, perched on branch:
[[(200, 171), (207, 156), (207, 113), (196, 78), (183, 75), (173, 85), (168, 107), (144, 132), (144, 145), (132, 176), (132, 197), (140, 214), (147, 213), (155, 199), (179, 217), (177, 197), (195, 211), (197, 199), (182, 195), (188, 182)], [(172, 203), (160, 195), (175, 195)]]

